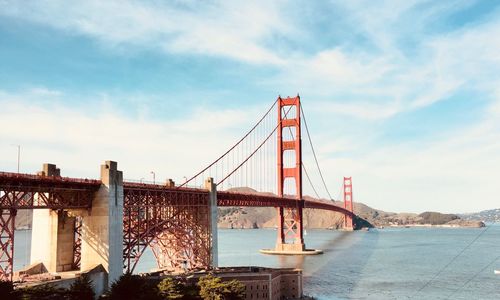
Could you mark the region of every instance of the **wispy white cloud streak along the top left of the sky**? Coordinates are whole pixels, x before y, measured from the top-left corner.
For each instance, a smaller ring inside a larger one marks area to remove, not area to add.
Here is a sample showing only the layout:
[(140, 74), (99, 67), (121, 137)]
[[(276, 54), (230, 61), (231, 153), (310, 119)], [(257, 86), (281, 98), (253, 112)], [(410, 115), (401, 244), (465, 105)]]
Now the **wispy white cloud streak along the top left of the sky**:
[(87, 35), (107, 46), (136, 45), (272, 64), (282, 59), (264, 46), (266, 39), (289, 32), (293, 25), (280, 13), (280, 2), (268, 1), (0, 3), (0, 15)]

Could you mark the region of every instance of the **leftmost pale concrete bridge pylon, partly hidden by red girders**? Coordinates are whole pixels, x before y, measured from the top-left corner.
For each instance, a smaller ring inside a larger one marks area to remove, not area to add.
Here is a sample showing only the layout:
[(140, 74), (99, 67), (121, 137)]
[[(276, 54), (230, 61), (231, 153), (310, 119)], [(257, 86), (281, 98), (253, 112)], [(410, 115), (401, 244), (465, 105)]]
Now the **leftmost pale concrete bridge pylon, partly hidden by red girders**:
[[(44, 164), (43, 176), (59, 177), (60, 169)], [(35, 201), (43, 201), (42, 195)], [(73, 269), (75, 218), (63, 210), (34, 209), (31, 231), (31, 263), (41, 262), (48, 272)]]

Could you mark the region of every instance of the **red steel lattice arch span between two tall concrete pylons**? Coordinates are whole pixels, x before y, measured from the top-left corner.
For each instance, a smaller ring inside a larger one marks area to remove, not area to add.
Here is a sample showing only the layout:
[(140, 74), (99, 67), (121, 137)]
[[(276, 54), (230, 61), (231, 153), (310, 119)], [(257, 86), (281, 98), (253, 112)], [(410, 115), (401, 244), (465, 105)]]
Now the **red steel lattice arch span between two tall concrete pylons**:
[(161, 268), (208, 268), (209, 193), (201, 189), (124, 183), (124, 268), (133, 271), (151, 246)]

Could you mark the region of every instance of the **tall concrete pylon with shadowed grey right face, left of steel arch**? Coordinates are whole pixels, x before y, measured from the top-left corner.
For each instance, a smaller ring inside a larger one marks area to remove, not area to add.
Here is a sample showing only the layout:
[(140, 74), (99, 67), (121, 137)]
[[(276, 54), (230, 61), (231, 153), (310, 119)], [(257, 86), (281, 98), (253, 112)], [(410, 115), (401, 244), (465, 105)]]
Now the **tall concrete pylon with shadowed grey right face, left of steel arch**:
[(81, 270), (96, 265), (108, 272), (108, 286), (123, 274), (123, 174), (117, 163), (101, 165), (102, 185), (82, 217)]

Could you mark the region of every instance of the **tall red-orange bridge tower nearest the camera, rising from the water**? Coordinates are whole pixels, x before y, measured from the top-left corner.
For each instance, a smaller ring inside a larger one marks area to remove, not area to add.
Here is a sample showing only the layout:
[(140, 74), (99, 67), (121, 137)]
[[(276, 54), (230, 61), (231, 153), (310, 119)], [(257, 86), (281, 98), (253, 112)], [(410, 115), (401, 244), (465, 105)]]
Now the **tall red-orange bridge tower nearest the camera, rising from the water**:
[[(293, 180), (295, 194), (293, 207), (279, 207), (278, 238), (276, 251), (301, 252), (305, 250), (303, 236), (302, 210), (302, 140), (300, 135), (300, 96), (295, 98), (278, 97), (278, 195), (285, 194), (285, 182)], [(287, 154), (287, 155), (285, 155)], [(293, 159), (295, 157), (295, 159)], [(286, 162), (285, 162), (286, 159)]]

